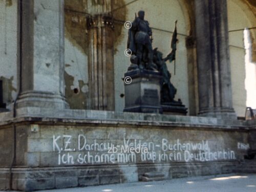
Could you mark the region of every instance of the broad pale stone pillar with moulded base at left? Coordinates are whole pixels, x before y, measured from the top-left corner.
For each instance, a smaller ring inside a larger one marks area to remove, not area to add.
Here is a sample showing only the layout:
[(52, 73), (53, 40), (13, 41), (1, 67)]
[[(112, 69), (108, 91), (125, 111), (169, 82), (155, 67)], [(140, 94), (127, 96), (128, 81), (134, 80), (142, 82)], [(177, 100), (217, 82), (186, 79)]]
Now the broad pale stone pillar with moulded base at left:
[(17, 107), (67, 108), (64, 83), (64, 1), (23, 0), (20, 95)]

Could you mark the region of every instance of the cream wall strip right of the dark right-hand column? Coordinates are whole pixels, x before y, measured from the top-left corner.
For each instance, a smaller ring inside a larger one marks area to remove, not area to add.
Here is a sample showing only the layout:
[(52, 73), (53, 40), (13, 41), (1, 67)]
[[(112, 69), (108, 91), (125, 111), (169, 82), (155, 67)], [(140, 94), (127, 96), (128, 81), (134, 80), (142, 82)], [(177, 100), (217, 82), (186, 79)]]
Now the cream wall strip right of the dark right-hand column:
[[(233, 108), (238, 116), (243, 117), (247, 98), (243, 29), (255, 27), (256, 17), (245, 2), (229, 0), (227, 3)], [(239, 29), (240, 31), (233, 31)], [(251, 30), (252, 40), (255, 39), (255, 34), (255, 29)]]

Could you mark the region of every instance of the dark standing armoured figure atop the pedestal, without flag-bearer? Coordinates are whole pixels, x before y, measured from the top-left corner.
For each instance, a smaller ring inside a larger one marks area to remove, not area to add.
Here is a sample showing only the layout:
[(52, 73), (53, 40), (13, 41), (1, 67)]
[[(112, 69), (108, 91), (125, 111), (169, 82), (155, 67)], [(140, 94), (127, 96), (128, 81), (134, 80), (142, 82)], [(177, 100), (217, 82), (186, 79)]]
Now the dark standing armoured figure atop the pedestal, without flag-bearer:
[(157, 70), (157, 66), (153, 63), (152, 30), (149, 23), (144, 20), (144, 15), (144, 11), (139, 11), (138, 17), (135, 17), (129, 29), (127, 49), (132, 51), (132, 65), (128, 70), (138, 66), (140, 69)]

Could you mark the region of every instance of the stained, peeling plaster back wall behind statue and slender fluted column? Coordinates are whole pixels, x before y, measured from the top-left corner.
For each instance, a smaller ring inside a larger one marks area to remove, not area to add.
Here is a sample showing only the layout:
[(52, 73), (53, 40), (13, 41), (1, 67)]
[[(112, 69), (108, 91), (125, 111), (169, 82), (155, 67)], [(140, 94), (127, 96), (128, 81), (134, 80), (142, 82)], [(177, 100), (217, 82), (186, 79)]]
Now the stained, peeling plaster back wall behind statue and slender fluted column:
[[(131, 4), (130, 4), (131, 3)], [(86, 28), (86, 17), (100, 12), (102, 1), (65, 1), (65, 81), (66, 98), (71, 109), (90, 109), (88, 91), (88, 61), (90, 55), (89, 29)], [(127, 4), (127, 5), (126, 5)], [(178, 22), (179, 44), (177, 50), (176, 75), (174, 75), (174, 63), (167, 63), (169, 71), (172, 73), (172, 82), (178, 89), (176, 99), (181, 98), (188, 106), (188, 77), (187, 77), (187, 53), (185, 38), (188, 33), (185, 16), (177, 0), (163, 0), (161, 4), (156, 1), (129, 0), (112, 1), (112, 13), (115, 21), (113, 30), (114, 45), (114, 72), (115, 72), (115, 110), (123, 111), (124, 108), (124, 85), (123, 74), (130, 65), (130, 60), (123, 52), (126, 49), (127, 29), (123, 27), (123, 22), (133, 20), (135, 12), (143, 9), (146, 12), (145, 19), (150, 22), (153, 29), (153, 47), (158, 47), (164, 55), (170, 52), (170, 40), (174, 31), (174, 22)], [(158, 29), (166, 30), (161, 31)], [(166, 40), (163, 40), (166, 39)]]

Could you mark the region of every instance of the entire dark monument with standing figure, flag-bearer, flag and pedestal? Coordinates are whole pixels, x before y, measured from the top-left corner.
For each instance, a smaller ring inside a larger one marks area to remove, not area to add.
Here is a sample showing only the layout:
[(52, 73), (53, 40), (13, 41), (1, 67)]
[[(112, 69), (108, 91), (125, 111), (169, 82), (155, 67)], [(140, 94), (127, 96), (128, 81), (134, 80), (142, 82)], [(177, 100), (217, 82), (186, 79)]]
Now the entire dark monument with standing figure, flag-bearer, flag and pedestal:
[(170, 82), (171, 75), (165, 63), (175, 60), (177, 21), (170, 46), (172, 52), (163, 58), (157, 48), (152, 48), (152, 30), (144, 15), (144, 11), (139, 11), (129, 29), (127, 50), (131, 54), (131, 65), (124, 74), (123, 111), (186, 115), (187, 109), (181, 100), (174, 100), (177, 90)]

